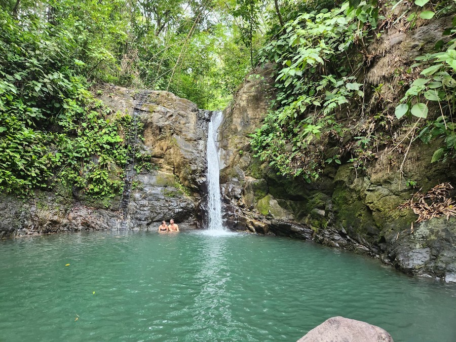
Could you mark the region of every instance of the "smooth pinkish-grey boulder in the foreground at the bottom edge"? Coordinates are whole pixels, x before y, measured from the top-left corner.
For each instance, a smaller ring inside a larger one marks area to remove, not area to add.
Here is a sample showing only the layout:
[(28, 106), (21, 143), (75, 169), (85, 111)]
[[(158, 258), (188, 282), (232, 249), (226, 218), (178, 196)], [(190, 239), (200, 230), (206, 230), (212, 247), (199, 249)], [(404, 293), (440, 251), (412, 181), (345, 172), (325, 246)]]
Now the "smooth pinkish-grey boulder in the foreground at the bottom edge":
[(393, 342), (391, 335), (375, 325), (341, 316), (331, 317), (297, 342)]

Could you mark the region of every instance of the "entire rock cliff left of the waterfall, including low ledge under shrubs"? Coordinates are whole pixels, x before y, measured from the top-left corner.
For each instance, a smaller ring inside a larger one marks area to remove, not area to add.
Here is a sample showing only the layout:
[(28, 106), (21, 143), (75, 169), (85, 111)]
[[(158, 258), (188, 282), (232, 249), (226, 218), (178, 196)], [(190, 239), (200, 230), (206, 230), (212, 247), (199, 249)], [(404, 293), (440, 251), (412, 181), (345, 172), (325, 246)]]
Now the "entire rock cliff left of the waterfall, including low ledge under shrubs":
[[(133, 113), (133, 90), (104, 86), (100, 98), (114, 111)], [(201, 222), (206, 191), (206, 139), (211, 112), (200, 110), (172, 93), (146, 91), (139, 112), (144, 126), (143, 142), (153, 169), (142, 169), (133, 179), (126, 226), (157, 229), (162, 220), (174, 217), (181, 229)], [(39, 233), (116, 229), (120, 226), (120, 198), (110, 203), (89, 201), (58, 186), (50, 192), (36, 191), (31, 200), (0, 196), (0, 238)]]

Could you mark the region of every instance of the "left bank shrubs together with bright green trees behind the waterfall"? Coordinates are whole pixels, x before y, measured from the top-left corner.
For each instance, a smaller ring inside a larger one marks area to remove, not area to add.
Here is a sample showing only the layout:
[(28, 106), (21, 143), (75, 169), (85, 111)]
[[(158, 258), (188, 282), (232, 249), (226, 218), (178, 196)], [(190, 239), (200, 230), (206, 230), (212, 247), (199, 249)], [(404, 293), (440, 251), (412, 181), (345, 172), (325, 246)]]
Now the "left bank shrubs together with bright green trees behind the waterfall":
[[(131, 118), (113, 115), (90, 87), (169, 90), (200, 107), (224, 107), (250, 65), (235, 9), (234, 2), (3, 0), (0, 192), (58, 183), (70, 193), (115, 196)], [(136, 160), (137, 171), (155, 167), (146, 154)]]

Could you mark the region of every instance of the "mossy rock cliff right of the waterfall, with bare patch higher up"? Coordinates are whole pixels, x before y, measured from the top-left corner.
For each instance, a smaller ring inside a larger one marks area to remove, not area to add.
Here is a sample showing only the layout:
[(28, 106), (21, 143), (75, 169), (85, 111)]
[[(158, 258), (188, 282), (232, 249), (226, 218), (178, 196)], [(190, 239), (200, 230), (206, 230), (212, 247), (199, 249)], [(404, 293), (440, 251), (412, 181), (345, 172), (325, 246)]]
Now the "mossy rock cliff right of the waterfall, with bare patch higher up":
[[(419, 44), (426, 50), (441, 38), (436, 25), (444, 27), (442, 22), (433, 22), (409, 35), (391, 29), (371, 46), (373, 62), (366, 87), (383, 83), (384, 89), (395, 89), (391, 75), (416, 56), (413, 47)], [(278, 176), (252, 156), (249, 134), (261, 126), (268, 98), (274, 96), (272, 67), (254, 70), (224, 111), (220, 184), (227, 225), (235, 230), (314, 240), (381, 258), (406, 273), (455, 281), (456, 218), (433, 218), (412, 226), (417, 216), (398, 209), (417, 191), (406, 186), (398, 171), (401, 153), (379, 151), (362, 174), (350, 163), (328, 165), (319, 181), (311, 184)], [(366, 103), (374, 105), (375, 96), (366, 98)], [(404, 163), (404, 173), (424, 192), (442, 182), (456, 184), (454, 163), (430, 163), (435, 149), (415, 141)]]

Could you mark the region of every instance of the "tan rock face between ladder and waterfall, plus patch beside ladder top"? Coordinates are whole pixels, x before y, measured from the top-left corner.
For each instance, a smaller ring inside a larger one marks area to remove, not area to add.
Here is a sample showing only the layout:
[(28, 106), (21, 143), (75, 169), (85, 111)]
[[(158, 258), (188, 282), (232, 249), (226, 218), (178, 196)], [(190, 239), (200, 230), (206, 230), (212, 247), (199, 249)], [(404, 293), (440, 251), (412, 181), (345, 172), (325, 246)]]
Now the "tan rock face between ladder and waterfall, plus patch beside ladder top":
[[(133, 92), (104, 90), (101, 99), (112, 108), (133, 112)], [(144, 229), (174, 217), (184, 229), (201, 221), (201, 194), (206, 189), (206, 140), (211, 112), (172, 93), (147, 91), (141, 106), (144, 125), (140, 149), (151, 156), (154, 170), (134, 178), (127, 221)]]

